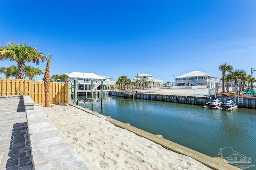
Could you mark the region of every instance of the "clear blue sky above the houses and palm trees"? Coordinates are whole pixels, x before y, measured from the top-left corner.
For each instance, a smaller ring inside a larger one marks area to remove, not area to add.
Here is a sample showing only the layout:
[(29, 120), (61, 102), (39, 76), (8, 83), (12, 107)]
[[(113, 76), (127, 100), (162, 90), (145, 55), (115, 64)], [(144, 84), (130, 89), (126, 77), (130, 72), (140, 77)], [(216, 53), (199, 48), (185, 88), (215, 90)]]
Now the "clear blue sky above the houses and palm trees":
[(250, 74), (256, 1), (1, 0), (0, 44), (9, 41), (50, 53), (51, 76), (97, 72), (117, 80), (147, 73), (167, 82), (196, 70), (221, 77), (224, 62)]

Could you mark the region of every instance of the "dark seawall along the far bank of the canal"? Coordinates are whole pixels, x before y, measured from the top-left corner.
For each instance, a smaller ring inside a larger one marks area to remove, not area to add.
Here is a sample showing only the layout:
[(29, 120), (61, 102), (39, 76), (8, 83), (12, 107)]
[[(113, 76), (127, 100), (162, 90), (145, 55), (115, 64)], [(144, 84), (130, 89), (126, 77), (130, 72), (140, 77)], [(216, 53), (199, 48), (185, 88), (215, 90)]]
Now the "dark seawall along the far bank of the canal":
[[(118, 96), (122, 98), (133, 98), (133, 95), (122, 92), (110, 92), (112, 96)], [(136, 99), (144, 100), (154, 100), (162, 102), (172, 102), (172, 103), (182, 103), (182, 104), (194, 104), (204, 106), (207, 102), (210, 101), (210, 96), (175, 96), (175, 95), (163, 95), (163, 94), (145, 94), (145, 93), (136, 93), (134, 94)], [(218, 96), (218, 99), (221, 102), (224, 102), (228, 98), (231, 98), (235, 101), (235, 97), (222, 97)], [(237, 98), (236, 103), (238, 107), (244, 107), (249, 109), (256, 109), (256, 98)]]

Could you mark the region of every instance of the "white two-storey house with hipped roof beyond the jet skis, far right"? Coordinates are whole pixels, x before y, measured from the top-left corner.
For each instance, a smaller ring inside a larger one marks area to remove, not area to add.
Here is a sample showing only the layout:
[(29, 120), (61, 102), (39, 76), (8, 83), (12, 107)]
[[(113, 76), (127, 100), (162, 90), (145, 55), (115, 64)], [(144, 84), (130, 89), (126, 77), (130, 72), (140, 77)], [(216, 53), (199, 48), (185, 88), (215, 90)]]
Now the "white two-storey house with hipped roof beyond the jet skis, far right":
[(199, 88), (215, 88), (221, 83), (218, 76), (202, 72), (192, 71), (187, 74), (175, 77), (172, 86), (198, 86)]

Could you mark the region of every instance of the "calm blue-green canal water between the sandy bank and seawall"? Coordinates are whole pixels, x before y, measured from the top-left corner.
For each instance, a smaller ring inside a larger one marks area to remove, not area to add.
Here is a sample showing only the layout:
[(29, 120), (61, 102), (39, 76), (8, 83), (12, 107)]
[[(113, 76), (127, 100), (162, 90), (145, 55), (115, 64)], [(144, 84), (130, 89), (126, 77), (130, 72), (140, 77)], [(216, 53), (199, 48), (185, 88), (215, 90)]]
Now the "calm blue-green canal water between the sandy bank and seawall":
[[(233, 111), (205, 109), (203, 106), (139, 99), (104, 98), (80, 106), (98, 111), (113, 119), (209, 156), (218, 156), (221, 148), (230, 147), (256, 165), (256, 110)], [(230, 154), (229, 154), (230, 155)], [(228, 155), (228, 156), (229, 156)], [(220, 155), (219, 155), (220, 156)], [(256, 169), (256, 166), (250, 168)]]

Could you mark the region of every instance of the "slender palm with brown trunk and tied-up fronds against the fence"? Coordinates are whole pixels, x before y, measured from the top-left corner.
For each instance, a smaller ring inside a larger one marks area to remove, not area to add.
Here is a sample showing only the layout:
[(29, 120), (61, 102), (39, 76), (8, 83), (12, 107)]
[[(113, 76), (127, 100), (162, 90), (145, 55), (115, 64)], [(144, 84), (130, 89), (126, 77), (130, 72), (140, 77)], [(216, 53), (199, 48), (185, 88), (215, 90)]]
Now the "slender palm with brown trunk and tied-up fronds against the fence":
[(50, 106), (50, 64), (52, 62), (52, 55), (48, 55), (46, 59), (46, 68), (44, 73), (44, 107)]

